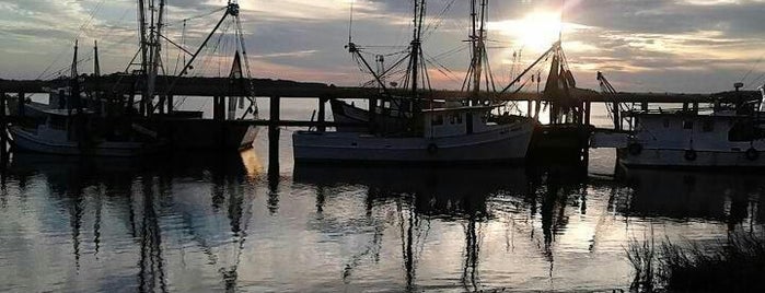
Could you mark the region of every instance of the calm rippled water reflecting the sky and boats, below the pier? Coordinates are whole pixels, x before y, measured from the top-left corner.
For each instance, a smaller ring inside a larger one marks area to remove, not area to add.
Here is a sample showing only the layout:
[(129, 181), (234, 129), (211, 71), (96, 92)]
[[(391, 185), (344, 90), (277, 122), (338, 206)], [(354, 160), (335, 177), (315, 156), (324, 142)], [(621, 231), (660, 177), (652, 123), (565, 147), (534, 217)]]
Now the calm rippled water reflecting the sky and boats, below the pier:
[(611, 291), (629, 286), (629, 238), (712, 243), (765, 220), (753, 174), (614, 179), (612, 150), (587, 173), (293, 168), (290, 134), (270, 179), (265, 131), (229, 156), (14, 155), (0, 291)]

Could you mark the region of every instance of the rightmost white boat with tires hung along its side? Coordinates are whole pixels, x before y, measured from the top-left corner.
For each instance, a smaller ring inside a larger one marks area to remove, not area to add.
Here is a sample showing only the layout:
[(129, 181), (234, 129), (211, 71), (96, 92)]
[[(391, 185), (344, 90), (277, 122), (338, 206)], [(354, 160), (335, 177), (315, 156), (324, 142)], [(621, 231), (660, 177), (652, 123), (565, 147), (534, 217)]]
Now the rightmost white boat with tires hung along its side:
[[(627, 167), (765, 167), (765, 89), (760, 101), (715, 102), (711, 113), (633, 113), (634, 131), (617, 149)], [(726, 105), (728, 104), (728, 105)], [(732, 104), (732, 105), (731, 105)]]

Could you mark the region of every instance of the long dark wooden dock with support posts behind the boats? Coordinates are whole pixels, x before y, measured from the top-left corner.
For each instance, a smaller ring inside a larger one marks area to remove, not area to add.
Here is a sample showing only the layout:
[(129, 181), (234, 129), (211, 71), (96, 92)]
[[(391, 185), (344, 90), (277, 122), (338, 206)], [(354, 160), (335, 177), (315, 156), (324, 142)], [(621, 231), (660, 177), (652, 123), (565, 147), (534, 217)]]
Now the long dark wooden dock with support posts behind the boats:
[[(137, 89), (140, 86), (137, 84), (138, 77), (123, 73), (115, 73), (111, 75), (101, 77), (94, 79), (92, 77), (83, 75), (82, 90), (83, 92), (102, 92), (111, 96), (127, 96), (135, 95)], [(225, 124), (231, 125), (251, 125), (251, 126), (266, 126), (268, 127), (268, 138), (269, 138), (269, 169), (278, 174), (279, 163), (278, 163), (278, 149), (279, 149), (279, 127), (310, 127), (316, 128), (318, 130), (324, 130), (329, 127), (340, 126), (339, 124), (327, 121), (326, 119), (326, 104), (329, 99), (369, 99), (373, 101), (379, 96), (378, 89), (366, 89), (366, 87), (343, 87), (335, 86), (332, 84), (317, 83), (317, 82), (294, 82), (294, 81), (283, 81), (283, 80), (253, 80), (253, 86), (255, 89), (255, 96), (269, 98), (270, 115), (268, 119), (244, 119), (244, 120), (227, 120), (225, 119), (225, 98), (236, 97), (236, 96), (247, 96), (244, 93), (242, 86), (233, 86), (231, 80), (228, 78), (181, 78), (175, 80), (174, 77), (160, 77), (157, 79), (157, 95), (164, 97), (167, 102), (166, 113), (172, 113), (172, 101), (174, 96), (189, 96), (189, 97), (200, 97), (200, 98), (212, 98), (213, 99), (213, 120), (225, 121)], [(25, 99), (30, 94), (40, 94), (49, 93), (50, 89), (56, 89), (66, 85), (67, 79), (59, 79), (53, 81), (34, 81), (34, 80), (0, 80), (0, 108), (5, 109), (8, 105), (8, 98)], [(8, 94), (8, 95), (7, 95)], [(393, 91), (392, 94), (408, 95), (408, 92), (396, 92)], [(583, 89), (572, 89), (570, 91), (571, 97), (582, 105), (582, 116), (581, 127), (576, 129), (569, 129), (570, 126), (561, 126), (564, 128), (557, 129), (554, 126), (545, 126), (540, 128), (538, 138), (543, 140), (556, 141), (560, 138), (566, 138), (570, 143), (567, 145), (557, 145), (561, 148), (576, 148), (577, 151), (572, 152), (577, 156), (583, 154), (580, 160), (586, 160), (587, 149), (583, 140), (587, 136), (581, 134), (583, 130), (592, 129), (590, 124), (590, 109), (591, 103), (633, 103), (640, 105), (640, 108), (647, 109), (649, 104), (683, 104), (684, 108), (698, 108), (698, 104), (710, 103), (714, 98), (741, 98), (745, 99), (758, 99), (758, 92), (721, 92), (721, 93), (707, 93), (707, 94), (682, 94), (682, 93), (612, 93), (612, 94), (601, 94), (592, 90)], [(421, 96), (424, 98), (434, 98), (434, 99), (445, 99), (445, 101), (457, 101), (465, 99), (466, 94), (460, 91), (429, 91), (422, 92)], [(281, 103), (291, 99), (304, 99), (314, 98), (317, 101), (316, 109), (317, 117), (314, 120), (281, 120)], [(472, 96), (475, 98), (475, 96)], [(503, 102), (554, 102), (548, 101), (545, 96), (537, 93), (505, 93), (505, 94), (494, 94), (485, 93), (478, 98), (492, 99), (492, 101), (503, 101)], [(16, 103), (19, 106), (18, 113), (23, 115), (23, 107), (21, 103)], [(532, 103), (529, 103), (530, 105)], [(537, 103), (538, 106), (538, 103)], [(530, 107), (531, 108), (531, 107)], [(3, 131), (0, 131), (0, 140), (2, 140), (0, 145), (2, 145), (2, 156), (3, 160), (8, 157), (7, 150), (4, 148), (8, 142), (7, 131), (4, 131), (5, 125), (12, 122), (19, 117), (7, 116), (5, 112), (2, 110), (0, 114), (0, 124), (2, 124)], [(554, 138), (547, 138), (550, 134)], [(563, 133), (560, 136), (555, 133)], [(547, 142), (549, 142), (547, 141)], [(549, 144), (549, 143), (547, 143)], [(540, 145), (546, 145), (542, 143)], [(549, 146), (549, 145), (547, 145)], [(545, 146), (545, 148), (547, 148)], [(545, 149), (540, 146), (541, 149)], [(547, 148), (549, 149), (549, 148)], [(559, 148), (558, 148), (559, 149)], [(538, 150), (535, 152), (537, 155)], [(555, 151), (555, 153), (559, 153)]]

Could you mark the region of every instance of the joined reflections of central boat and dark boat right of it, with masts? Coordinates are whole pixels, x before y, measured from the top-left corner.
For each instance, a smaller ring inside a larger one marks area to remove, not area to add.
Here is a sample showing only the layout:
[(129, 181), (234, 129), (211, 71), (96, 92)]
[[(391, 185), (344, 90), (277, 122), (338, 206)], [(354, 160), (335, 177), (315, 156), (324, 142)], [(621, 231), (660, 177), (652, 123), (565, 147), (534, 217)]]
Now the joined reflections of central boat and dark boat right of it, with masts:
[[(555, 235), (564, 233), (568, 223), (566, 208), (575, 201), (586, 210), (586, 177), (579, 169), (524, 167), (348, 167), (300, 165), (294, 181), (316, 188), (317, 210), (326, 200), (326, 188), (357, 186), (367, 190), (368, 214), (376, 207), (392, 203), (402, 241), (402, 261), (406, 290), (415, 285), (418, 253), (424, 249), (430, 225), (438, 219), (457, 222), (464, 230), (463, 269), (460, 280), (466, 291), (484, 289), (479, 261), (484, 226), (491, 221), (506, 221), (508, 213), (525, 213), (542, 218), (544, 245), (540, 251), (550, 266)], [(511, 206), (515, 206), (514, 208)], [(502, 218), (502, 219), (499, 219)], [(379, 247), (384, 228), (375, 228), (370, 247)], [(535, 227), (524, 231), (534, 241)], [(420, 246), (420, 247), (418, 247)], [(375, 248), (374, 250), (379, 250)], [(358, 266), (358, 261), (351, 261)], [(353, 268), (347, 268), (346, 271)], [(348, 273), (348, 272), (347, 272)]]

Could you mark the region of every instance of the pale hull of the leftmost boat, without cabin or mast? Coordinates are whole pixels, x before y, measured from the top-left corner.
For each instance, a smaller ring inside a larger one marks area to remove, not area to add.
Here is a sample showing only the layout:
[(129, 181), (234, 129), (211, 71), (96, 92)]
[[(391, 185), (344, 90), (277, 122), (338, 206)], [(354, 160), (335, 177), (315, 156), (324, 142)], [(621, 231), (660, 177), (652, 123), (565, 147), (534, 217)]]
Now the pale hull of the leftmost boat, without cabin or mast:
[(80, 146), (78, 142), (45, 139), (28, 132), (21, 127), (9, 128), (12, 137), (12, 146), (15, 150), (59, 154), (59, 155), (89, 155), (89, 156), (139, 156), (161, 152), (165, 143), (144, 142), (98, 142), (88, 146)]

